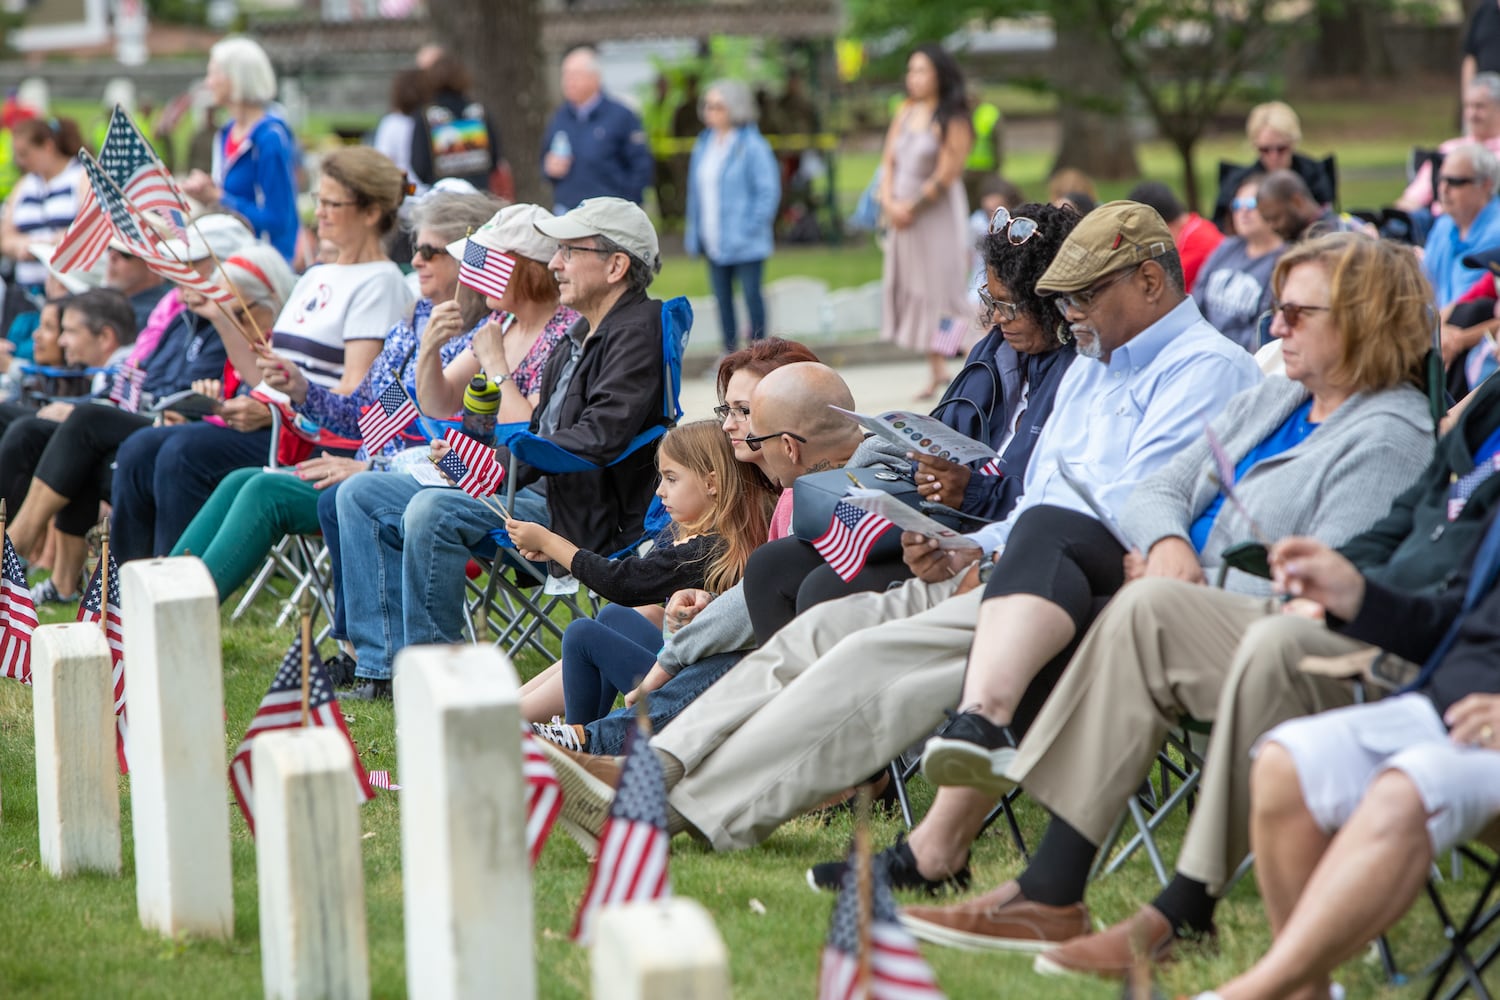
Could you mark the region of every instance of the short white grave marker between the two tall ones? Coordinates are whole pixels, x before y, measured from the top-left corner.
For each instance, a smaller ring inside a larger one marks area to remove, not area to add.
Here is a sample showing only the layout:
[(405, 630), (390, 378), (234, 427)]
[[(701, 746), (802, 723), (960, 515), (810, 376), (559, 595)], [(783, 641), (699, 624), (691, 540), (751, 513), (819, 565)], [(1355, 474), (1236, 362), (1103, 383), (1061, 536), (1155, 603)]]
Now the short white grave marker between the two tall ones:
[(370, 994), (354, 754), (334, 729), (250, 744), (267, 1000)]

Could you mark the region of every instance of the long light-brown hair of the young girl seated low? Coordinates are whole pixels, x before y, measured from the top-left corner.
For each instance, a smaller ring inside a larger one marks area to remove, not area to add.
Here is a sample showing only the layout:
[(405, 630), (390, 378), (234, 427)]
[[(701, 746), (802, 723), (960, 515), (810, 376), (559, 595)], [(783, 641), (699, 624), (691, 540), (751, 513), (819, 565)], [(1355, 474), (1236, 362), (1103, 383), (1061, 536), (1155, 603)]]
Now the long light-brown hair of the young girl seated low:
[(750, 553), (765, 544), (772, 496), (756, 481), (754, 466), (735, 460), (735, 450), (717, 421), (694, 420), (668, 430), (657, 448), (658, 466), (662, 459), (714, 480), (710, 508), (692, 523), (674, 525), (674, 531), (678, 538), (718, 537), (704, 573), (704, 589), (722, 594), (740, 582)]

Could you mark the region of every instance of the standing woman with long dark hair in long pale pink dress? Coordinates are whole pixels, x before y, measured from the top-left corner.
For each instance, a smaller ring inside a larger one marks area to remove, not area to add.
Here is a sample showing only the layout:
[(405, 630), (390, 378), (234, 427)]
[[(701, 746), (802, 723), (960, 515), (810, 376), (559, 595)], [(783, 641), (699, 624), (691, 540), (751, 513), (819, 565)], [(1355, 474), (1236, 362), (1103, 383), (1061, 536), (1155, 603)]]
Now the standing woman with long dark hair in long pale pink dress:
[(938, 45), (920, 46), (906, 61), (906, 102), (885, 136), (879, 193), (890, 226), (880, 339), (927, 355), (932, 375), (918, 399), (942, 390), (948, 358), (968, 340), (963, 163), (972, 147), (958, 64)]

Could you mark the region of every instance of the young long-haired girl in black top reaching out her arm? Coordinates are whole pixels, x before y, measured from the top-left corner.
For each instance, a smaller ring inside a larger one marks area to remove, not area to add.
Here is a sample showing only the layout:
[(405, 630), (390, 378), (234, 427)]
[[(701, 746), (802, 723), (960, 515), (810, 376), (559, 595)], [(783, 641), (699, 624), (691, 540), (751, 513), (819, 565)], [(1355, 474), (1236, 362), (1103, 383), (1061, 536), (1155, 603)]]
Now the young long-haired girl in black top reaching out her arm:
[[(765, 541), (770, 495), (753, 466), (735, 460), (723, 429), (712, 420), (674, 427), (657, 450), (657, 496), (672, 517), (668, 538), (644, 556), (610, 559), (584, 552), (531, 522), (506, 522), (528, 559), (552, 559), (600, 597), (612, 601), (598, 618), (578, 619), (562, 636), (562, 700), (567, 726), (582, 747), (582, 729), (614, 708), (615, 696), (638, 684), (652, 690), (668, 678), (652, 670), (660, 630), (630, 606), (660, 603), (686, 588), (714, 594), (734, 586), (746, 559)], [(660, 675), (660, 676), (656, 676)], [(646, 678), (642, 684), (642, 678)], [(654, 681), (654, 682), (652, 682)]]

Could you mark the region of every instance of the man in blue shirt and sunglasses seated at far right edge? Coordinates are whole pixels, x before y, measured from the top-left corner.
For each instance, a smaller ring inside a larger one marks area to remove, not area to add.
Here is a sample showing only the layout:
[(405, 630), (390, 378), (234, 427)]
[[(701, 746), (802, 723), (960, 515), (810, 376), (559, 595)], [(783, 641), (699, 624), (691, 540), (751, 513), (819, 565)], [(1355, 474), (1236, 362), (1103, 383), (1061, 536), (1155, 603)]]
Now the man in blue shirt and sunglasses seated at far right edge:
[(1478, 142), (1452, 150), (1437, 171), (1437, 199), (1443, 214), (1432, 223), (1422, 256), (1422, 270), (1432, 282), (1437, 304), (1446, 307), (1484, 277), (1482, 268), (1466, 267), (1464, 256), (1500, 246), (1500, 162)]

